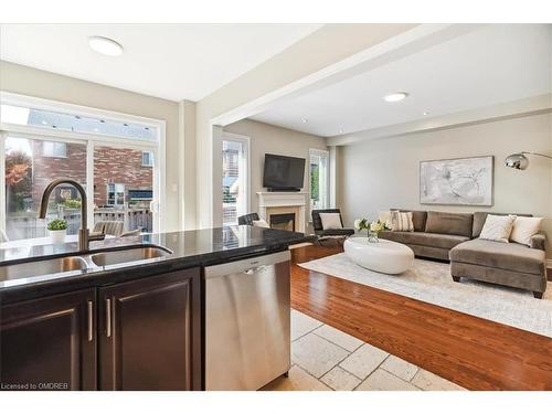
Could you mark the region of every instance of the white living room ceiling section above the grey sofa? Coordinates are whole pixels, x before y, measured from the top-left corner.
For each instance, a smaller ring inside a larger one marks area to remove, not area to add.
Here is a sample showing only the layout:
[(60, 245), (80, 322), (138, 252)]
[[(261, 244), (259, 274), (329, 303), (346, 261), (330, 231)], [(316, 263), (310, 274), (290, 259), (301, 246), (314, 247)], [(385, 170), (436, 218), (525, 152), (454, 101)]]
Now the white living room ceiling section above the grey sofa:
[[(486, 107), (550, 93), (551, 54), (551, 24), (488, 25), (279, 102), (252, 119), (329, 137)], [(410, 96), (382, 99), (399, 91)]]

